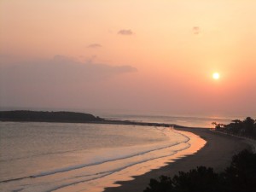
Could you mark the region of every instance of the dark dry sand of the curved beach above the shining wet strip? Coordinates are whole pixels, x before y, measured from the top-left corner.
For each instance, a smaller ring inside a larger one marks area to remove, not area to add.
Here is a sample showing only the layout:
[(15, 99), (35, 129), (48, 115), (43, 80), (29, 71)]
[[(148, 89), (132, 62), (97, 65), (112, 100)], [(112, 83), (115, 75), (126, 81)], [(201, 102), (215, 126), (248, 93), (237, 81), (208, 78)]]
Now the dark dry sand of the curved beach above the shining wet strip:
[(167, 166), (152, 170), (141, 176), (136, 176), (134, 180), (118, 182), (121, 186), (107, 188), (104, 192), (143, 192), (143, 189), (146, 189), (148, 186), (150, 178), (158, 178), (161, 175), (172, 177), (179, 171), (187, 172), (196, 166), (210, 166), (216, 172), (220, 172), (230, 165), (231, 157), (234, 154), (237, 154), (244, 148), (250, 148), (243, 139), (214, 133), (207, 129), (179, 128), (177, 130), (193, 132), (205, 139), (207, 144), (196, 154), (178, 159)]

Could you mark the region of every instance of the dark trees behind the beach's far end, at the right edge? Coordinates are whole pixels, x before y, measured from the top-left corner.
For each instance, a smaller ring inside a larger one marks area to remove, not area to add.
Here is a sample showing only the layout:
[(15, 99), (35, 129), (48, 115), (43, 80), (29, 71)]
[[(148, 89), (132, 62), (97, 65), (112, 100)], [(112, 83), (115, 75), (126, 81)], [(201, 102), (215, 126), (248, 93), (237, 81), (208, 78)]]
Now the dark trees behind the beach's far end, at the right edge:
[(215, 130), (217, 131), (224, 131), (237, 136), (252, 137), (256, 139), (256, 120), (250, 117), (247, 117), (247, 119), (244, 120), (232, 120), (228, 125), (218, 124), (216, 122), (212, 122), (212, 125), (215, 126)]

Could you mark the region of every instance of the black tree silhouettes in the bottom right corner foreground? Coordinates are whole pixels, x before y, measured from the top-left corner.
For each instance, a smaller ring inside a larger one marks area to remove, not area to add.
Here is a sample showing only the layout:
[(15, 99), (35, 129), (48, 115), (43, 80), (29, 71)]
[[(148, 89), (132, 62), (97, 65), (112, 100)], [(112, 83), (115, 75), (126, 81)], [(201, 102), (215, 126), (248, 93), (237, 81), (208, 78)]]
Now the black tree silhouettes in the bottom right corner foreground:
[(199, 166), (174, 177), (151, 179), (144, 192), (255, 192), (256, 154), (243, 150), (233, 156), (224, 172)]

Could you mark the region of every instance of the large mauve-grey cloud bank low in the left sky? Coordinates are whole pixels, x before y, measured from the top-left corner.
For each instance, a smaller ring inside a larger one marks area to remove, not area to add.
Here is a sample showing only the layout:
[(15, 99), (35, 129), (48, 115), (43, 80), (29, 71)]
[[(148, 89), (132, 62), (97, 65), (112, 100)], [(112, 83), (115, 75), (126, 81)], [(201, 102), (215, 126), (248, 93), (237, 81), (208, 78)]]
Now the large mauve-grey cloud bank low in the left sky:
[(0, 85), (85, 84), (137, 71), (135, 67), (127, 65), (110, 66), (89, 61), (81, 62), (63, 55), (55, 55), (50, 60), (1, 64), (0, 68)]

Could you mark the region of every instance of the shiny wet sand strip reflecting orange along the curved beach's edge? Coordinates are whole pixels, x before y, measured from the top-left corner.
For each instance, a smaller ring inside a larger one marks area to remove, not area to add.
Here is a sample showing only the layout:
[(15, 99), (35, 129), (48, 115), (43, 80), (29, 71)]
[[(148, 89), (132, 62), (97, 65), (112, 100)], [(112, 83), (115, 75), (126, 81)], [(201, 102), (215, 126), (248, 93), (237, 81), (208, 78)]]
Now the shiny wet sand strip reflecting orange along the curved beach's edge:
[[(181, 159), (186, 155), (195, 154), (196, 151), (200, 150), (205, 144), (206, 141), (201, 137), (188, 132), (188, 131), (177, 131), (178, 134), (183, 135), (184, 137), (188, 137), (188, 141), (184, 141), (183, 143), (187, 143), (189, 145), (188, 148), (183, 148), (180, 150), (177, 148), (169, 148), (173, 154), (168, 154), (170, 152), (166, 151), (166, 155), (160, 156), (159, 158), (155, 158), (152, 160), (146, 160), (143, 162), (138, 162), (134, 165), (124, 167), (120, 169), (118, 172), (112, 172), (108, 174), (107, 177), (99, 177), (94, 181), (90, 181), (90, 183), (76, 183), (71, 184), (69, 186), (65, 186), (65, 189), (61, 189), (60, 191), (93, 191), (99, 192), (103, 191), (106, 187), (116, 187), (119, 186), (119, 182), (117, 181), (131, 181), (133, 177), (140, 177), (141, 175), (150, 172), (152, 170), (160, 169), (160, 167), (166, 166), (168, 163), (173, 162), (177, 159)], [(200, 143), (196, 145), (196, 143)], [(166, 148), (168, 149), (168, 148)], [(165, 150), (166, 150), (165, 149)], [(119, 188), (114, 188), (119, 191)], [(58, 191), (58, 190), (57, 190)]]

